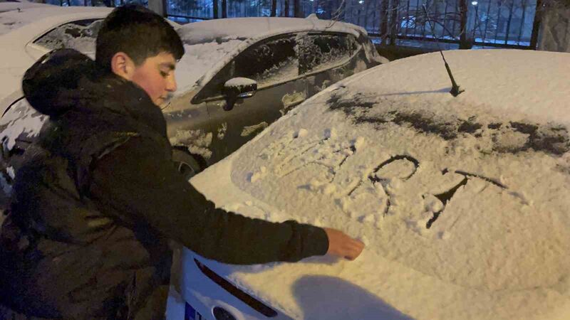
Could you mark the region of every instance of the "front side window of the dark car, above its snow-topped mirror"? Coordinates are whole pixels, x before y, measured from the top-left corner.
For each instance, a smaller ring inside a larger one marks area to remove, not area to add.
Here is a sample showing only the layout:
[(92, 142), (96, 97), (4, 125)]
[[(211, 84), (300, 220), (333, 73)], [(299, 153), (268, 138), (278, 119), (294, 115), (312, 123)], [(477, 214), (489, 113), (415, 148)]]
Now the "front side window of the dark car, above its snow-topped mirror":
[(266, 87), (299, 76), (296, 53), (296, 35), (279, 36), (260, 41), (240, 53), (204, 86), (197, 100), (222, 95), (224, 83), (242, 77), (257, 81), (257, 87)]

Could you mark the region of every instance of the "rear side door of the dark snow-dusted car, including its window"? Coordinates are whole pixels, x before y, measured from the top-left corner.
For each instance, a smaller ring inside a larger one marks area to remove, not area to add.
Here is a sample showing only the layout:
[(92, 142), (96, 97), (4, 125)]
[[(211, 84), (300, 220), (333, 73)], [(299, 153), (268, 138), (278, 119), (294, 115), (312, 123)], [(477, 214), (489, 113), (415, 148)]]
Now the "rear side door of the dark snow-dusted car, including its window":
[(309, 97), (366, 68), (366, 54), (352, 34), (306, 33), (299, 41), (299, 72)]

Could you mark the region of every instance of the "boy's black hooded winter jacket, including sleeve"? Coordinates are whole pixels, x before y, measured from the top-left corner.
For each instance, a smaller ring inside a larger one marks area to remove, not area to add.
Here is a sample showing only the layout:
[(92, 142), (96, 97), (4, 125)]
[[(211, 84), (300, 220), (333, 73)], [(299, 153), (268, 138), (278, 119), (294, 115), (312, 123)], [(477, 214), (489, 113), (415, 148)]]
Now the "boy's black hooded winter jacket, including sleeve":
[(326, 253), (321, 228), (215, 208), (172, 165), (159, 108), (85, 55), (49, 53), (22, 86), (50, 120), (14, 180), (0, 304), (44, 318), (152, 319), (141, 310), (168, 284), (169, 238), (233, 264)]

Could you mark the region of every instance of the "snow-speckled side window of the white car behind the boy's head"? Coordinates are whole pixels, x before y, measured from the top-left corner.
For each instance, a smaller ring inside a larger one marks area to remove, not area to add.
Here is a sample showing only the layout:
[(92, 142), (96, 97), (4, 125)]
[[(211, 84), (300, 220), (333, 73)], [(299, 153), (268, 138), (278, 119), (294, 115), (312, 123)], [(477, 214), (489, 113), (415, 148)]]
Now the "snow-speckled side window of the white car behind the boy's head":
[(103, 19), (87, 19), (63, 24), (44, 34), (33, 43), (50, 50), (69, 48), (95, 53), (95, 39)]

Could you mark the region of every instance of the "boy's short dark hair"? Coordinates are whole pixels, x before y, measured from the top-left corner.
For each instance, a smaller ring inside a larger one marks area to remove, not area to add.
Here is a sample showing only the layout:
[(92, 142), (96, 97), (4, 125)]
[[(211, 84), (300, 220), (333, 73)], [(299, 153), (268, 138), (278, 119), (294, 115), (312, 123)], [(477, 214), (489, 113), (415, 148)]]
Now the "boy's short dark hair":
[(111, 58), (126, 53), (135, 65), (161, 52), (172, 53), (176, 60), (184, 55), (178, 33), (164, 18), (138, 4), (113, 10), (103, 21), (98, 36), (95, 61), (111, 69)]

